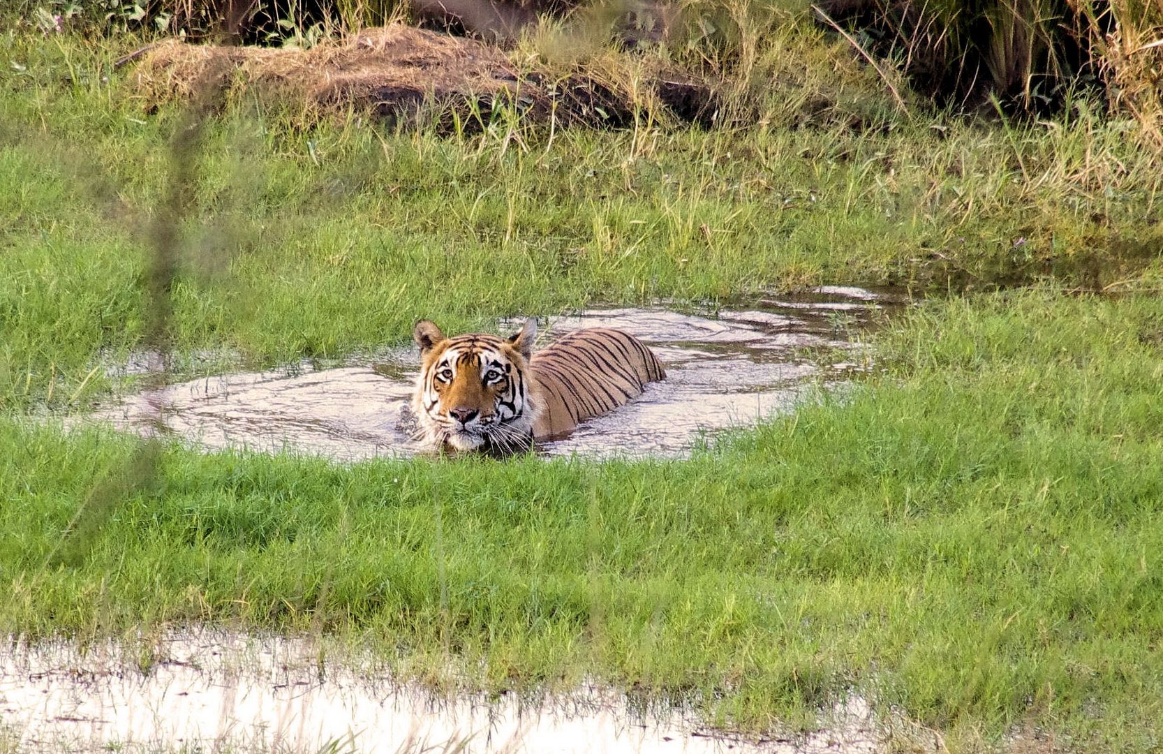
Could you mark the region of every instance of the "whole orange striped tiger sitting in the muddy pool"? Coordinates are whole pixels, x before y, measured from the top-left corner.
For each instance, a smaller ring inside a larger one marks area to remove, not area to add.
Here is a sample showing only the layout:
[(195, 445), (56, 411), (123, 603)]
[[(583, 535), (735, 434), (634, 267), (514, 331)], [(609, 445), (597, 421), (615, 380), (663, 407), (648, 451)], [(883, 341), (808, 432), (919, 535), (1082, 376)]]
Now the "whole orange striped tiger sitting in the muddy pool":
[(421, 442), (438, 451), (527, 451), (666, 376), (642, 341), (607, 327), (575, 330), (536, 353), (534, 319), (509, 337), (447, 337), (431, 320), (420, 320), (413, 337), (422, 368), (412, 408)]

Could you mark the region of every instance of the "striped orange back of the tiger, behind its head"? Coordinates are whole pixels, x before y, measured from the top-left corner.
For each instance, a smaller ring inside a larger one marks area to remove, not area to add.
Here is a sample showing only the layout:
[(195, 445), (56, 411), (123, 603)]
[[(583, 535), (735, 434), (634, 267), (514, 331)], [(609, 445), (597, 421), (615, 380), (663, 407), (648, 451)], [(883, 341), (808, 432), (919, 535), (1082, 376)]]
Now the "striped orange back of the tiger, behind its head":
[(647, 383), (666, 376), (658, 358), (622, 330), (593, 327), (562, 336), (533, 354), (533, 393), (540, 404), (534, 436), (572, 432), (578, 424), (623, 405)]

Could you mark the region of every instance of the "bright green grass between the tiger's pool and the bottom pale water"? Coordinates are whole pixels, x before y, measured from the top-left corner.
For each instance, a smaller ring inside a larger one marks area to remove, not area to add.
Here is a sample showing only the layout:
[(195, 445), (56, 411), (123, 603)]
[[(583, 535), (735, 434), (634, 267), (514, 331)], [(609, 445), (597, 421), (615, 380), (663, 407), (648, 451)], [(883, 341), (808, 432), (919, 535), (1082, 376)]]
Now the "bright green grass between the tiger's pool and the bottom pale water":
[[(169, 448), (122, 498), (128, 440), (9, 418), (0, 624), (322, 628), (421, 677), (594, 675), (748, 727), (856, 689), (956, 747), (1147, 751), (1161, 327), (1149, 298), (952, 301), (886, 336), (886, 375), (690, 462)], [(94, 482), (101, 525), (62, 546)]]

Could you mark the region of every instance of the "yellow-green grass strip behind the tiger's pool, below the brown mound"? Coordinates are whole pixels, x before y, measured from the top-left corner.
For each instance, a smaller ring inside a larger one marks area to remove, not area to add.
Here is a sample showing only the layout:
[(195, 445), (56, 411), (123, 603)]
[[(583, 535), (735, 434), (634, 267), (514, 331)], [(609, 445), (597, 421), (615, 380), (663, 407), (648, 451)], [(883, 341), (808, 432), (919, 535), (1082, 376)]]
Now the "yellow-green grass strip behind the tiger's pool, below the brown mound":
[[(7, 42), (24, 70), (0, 74), (0, 405), (62, 407), (105, 386), (100, 355), (142, 342), (180, 114), (142, 111), (116, 44)], [(1084, 101), (1009, 127), (899, 115), (872, 130), (437, 138), (349, 125), (302, 130), (238, 102), (207, 126), (176, 244), (179, 351), (272, 363), (399, 342), (420, 316), (455, 330), (821, 282), (1161, 276), (1157, 162)]]

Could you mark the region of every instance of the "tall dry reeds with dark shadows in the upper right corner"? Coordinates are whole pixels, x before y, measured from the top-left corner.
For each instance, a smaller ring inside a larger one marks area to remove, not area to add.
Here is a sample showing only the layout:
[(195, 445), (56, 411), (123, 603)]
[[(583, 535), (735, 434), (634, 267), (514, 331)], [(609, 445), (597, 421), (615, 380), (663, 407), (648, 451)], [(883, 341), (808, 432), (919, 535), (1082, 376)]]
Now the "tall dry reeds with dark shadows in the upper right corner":
[(820, 0), (813, 9), (939, 106), (1036, 116), (1105, 95), (1163, 143), (1163, 0)]

